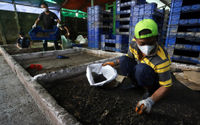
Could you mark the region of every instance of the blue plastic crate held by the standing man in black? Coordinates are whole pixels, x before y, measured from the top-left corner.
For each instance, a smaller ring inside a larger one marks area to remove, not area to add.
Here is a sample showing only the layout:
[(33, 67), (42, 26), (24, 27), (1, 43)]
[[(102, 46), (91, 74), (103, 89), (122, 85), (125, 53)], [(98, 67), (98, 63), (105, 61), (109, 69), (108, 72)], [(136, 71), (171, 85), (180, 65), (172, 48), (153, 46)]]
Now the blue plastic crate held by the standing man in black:
[[(38, 37), (37, 34), (44, 34), (44, 36)], [(48, 35), (47, 35), (48, 34)], [(29, 31), (31, 40), (58, 40), (59, 39), (59, 29), (54, 26), (51, 30), (43, 30), (42, 27), (37, 26)]]

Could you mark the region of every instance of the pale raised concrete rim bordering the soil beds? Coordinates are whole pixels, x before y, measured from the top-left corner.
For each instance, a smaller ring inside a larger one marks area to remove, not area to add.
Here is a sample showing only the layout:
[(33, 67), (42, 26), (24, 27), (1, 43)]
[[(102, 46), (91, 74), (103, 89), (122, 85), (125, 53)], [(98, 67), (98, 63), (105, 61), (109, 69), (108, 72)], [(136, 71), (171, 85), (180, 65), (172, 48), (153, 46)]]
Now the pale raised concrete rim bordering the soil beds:
[(87, 62), (85, 64), (80, 64), (78, 66), (72, 66), (64, 68), (58, 71), (45, 73), (41, 77), (38, 77), (40, 81), (49, 82), (65, 77), (70, 77), (75, 74), (79, 74), (86, 70), (88, 64), (91, 63), (102, 63), (108, 60), (116, 59), (123, 54), (121, 53), (110, 53), (100, 50), (88, 50), (88, 49), (69, 49), (61, 51), (49, 51), (49, 52), (38, 52), (38, 53), (27, 53), (18, 55), (9, 55), (3, 47), (0, 47), (0, 52), (4, 56), (5, 60), (11, 67), (12, 71), (16, 73), (17, 77), (23, 83), (27, 91), (35, 100), (38, 107), (45, 114), (47, 119), (53, 125), (79, 125), (78, 122), (72, 115), (70, 115), (63, 107), (57, 104), (55, 99), (32, 77), (17, 61), (23, 61), (34, 58), (49, 57), (62, 54), (72, 54), (72, 53), (88, 53), (96, 56), (105, 56), (105, 59), (97, 60), (94, 62)]

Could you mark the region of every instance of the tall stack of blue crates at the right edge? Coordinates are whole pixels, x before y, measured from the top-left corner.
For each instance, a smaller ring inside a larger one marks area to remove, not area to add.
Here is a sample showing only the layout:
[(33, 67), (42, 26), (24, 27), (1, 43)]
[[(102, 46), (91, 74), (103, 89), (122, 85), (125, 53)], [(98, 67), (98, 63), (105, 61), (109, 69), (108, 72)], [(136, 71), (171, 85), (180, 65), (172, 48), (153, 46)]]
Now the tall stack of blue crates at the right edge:
[(165, 47), (173, 61), (200, 64), (200, 1), (172, 0)]

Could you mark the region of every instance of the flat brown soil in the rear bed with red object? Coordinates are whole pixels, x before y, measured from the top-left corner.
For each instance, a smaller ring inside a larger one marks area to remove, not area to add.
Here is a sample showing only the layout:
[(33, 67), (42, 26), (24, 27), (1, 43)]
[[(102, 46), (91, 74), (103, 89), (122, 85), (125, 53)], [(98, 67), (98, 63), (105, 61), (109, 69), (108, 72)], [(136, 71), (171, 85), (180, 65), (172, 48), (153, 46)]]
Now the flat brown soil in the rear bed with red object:
[[(98, 57), (93, 54), (87, 54), (87, 53), (73, 53), (73, 54), (65, 54), (63, 56), (67, 58), (59, 59), (57, 58), (57, 56), (51, 56), (51, 57), (23, 60), (19, 63), (30, 73), (31, 76), (35, 76), (37, 74), (58, 71), (60, 69), (65, 69), (72, 66), (78, 66), (81, 64), (103, 59), (103, 57)], [(30, 69), (28, 67), (31, 64), (41, 64), (43, 68), (42, 70)]]

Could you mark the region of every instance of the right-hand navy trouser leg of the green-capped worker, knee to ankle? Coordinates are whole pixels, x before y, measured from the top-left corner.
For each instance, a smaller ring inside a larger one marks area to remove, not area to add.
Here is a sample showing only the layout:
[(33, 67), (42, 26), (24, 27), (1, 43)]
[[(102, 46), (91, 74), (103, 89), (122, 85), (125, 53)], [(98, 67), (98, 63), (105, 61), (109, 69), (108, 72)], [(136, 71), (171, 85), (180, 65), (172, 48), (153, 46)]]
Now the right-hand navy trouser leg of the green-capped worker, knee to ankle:
[(135, 66), (135, 79), (137, 84), (146, 88), (150, 95), (159, 87), (158, 75), (146, 64), (141, 63)]

